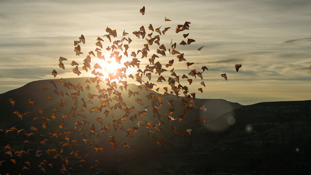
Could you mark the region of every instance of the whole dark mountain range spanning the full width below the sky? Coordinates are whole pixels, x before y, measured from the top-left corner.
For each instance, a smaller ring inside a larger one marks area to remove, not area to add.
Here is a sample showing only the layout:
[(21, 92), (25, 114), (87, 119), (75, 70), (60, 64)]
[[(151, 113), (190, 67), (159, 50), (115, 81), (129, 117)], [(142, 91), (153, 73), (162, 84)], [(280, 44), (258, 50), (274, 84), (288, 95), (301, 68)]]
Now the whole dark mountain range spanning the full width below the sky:
[[(81, 83), (82, 87), (86, 87), (86, 78), (66, 79), (71, 84)], [(59, 102), (64, 97), (53, 93), (51, 80), (42, 80), (31, 82), (21, 88), (17, 88), (6, 93), (0, 94), (0, 129), (8, 129), (16, 126), (18, 129), (29, 128), (34, 125), (32, 118), (42, 115), (49, 116), (55, 106), (59, 107)], [(61, 82), (53, 80), (58, 88), (58, 92), (66, 89), (62, 88)], [(90, 85), (90, 84), (89, 84)], [(49, 88), (42, 92), (42, 88)], [(90, 86), (91, 87), (91, 86)], [(104, 85), (103, 85), (104, 87)], [(94, 87), (90, 91), (97, 90)], [(136, 85), (129, 85), (128, 89), (132, 91), (137, 90)], [(74, 90), (71, 89), (72, 92)], [(80, 97), (87, 99), (87, 93), (84, 89)], [(135, 106), (135, 111), (144, 109), (144, 105), (149, 104), (147, 91), (139, 90), (139, 94), (135, 97), (128, 98), (127, 92), (123, 89), (123, 101), (128, 106)], [(155, 96), (159, 94), (151, 91)], [(47, 96), (52, 94), (53, 101), (47, 103)], [(70, 93), (69, 93), (70, 94)], [(126, 97), (126, 98), (125, 98)], [(16, 104), (12, 106), (8, 102), (8, 98), (16, 100)], [(144, 105), (137, 105), (135, 99), (143, 99)], [(33, 99), (35, 105), (27, 105), (28, 99)], [(181, 100), (176, 96), (163, 96), (162, 107), (159, 108), (159, 114), (168, 112), (172, 105), (167, 101), (173, 100), (175, 103), (175, 111), (172, 117), (178, 118), (182, 113), (182, 108), (178, 101)], [(93, 100), (95, 103), (95, 99)], [(60, 114), (70, 111), (73, 102), (68, 98), (68, 104), (64, 107), (59, 107)], [(166, 116), (161, 116), (160, 119), (153, 117), (153, 113), (147, 113), (145, 116), (138, 117), (134, 122), (124, 122), (124, 128), (128, 126), (137, 126), (138, 120), (146, 120), (152, 123), (158, 123), (159, 120), (165, 122), (160, 125), (163, 132), (151, 132), (148, 136), (148, 130), (139, 126), (138, 133), (134, 133), (133, 138), (126, 138), (124, 132), (113, 130), (110, 133), (87, 137), (89, 141), (94, 140), (97, 144), (104, 145), (104, 153), (95, 153), (90, 151), (89, 156), (84, 156), (86, 160), (84, 167), (78, 167), (77, 159), (70, 155), (71, 149), (64, 149), (63, 158), (69, 158), (69, 165), (74, 168), (74, 171), (69, 171), (70, 174), (76, 175), (307, 175), (311, 172), (311, 100), (309, 101), (291, 101), (291, 102), (263, 102), (254, 105), (240, 105), (238, 103), (231, 103), (222, 99), (194, 99), (197, 108), (192, 108), (186, 112), (184, 118), (169, 123)], [(89, 104), (88, 104), (89, 105)], [(200, 110), (199, 107), (205, 105), (206, 111)], [(42, 107), (44, 113), (39, 114), (38, 109)], [(152, 111), (152, 108), (147, 107), (147, 112)], [(21, 112), (30, 111), (27, 117), (20, 120), (13, 111), (19, 110)], [(85, 111), (86, 112), (86, 111)], [(114, 113), (113, 119), (119, 119), (123, 114)], [(102, 118), (105, 123), (110, 123), (109, 117)], [(57, 147), (62, 137), (47, 141), (47, 144), (39, 144), (38, 142), (47, 138), (49, 132), (58, 128), (61, 115), (57, 116), (54, 121), (48, 123), (48, 127), (44, 130), (38, 128), (41, 135), (27, 137), (21, 134), (17, 136), (16, 131), (7, 132), (7, 135), (0, 132), (1, 142), (0, 146), (4, 147), (6, 144), (15, 150), (21, 149), (39, 149), (46, 150), (47, 148)], [(90, 124), (94, 123), (95, 128), (102, 127), (101, 124), (95, 121), (98, 114), (87, 113), (86, 119), (90, 123), (85, 126), (86, 130), (90, 129)], [(110, 116), (110, 114), (109, 114)], [(194, 122), (195, 119), (207, 118), (207, 123)], [(82, 120), (81, 117), (77, 119), (69, 119), (66, 121), (71, 128), (74, 127), (76, 121)], [(39, 123), (42, 119), (38, 119), (35, 123)], [(179, 131), (177, 136), (174, 135), (171, 127), (176, 127)], [(183, 132), (191, 128), (191, 134), (187, 137)], [(27, 133), (29, 129), (27, 129)], [(81, 140), (80, 134), (76, 134), (72, 130), (70, 137)], [(111, 148), (107, 143), (108, 136), (115, 136), (116, 140), (120, 140), (119, 148)], [(163, 139), (165, 142), (159, 144), (151, 137), (155, 136), (157, 140)], [(22, 142), (28, 139), (32, 145), (25, 145)], [(129, 145), (134, 144), (136, 149), (123, 148), (121, 145), (126, 141)], [(81, 141), (80, 141), (81, 142)], [(94, 145), (80, 143), (81, 152), (86, 151), (86, 146), (93, 147)], [(55, 146), (56, 145), (56, 146)], [(72, 148), (73, 149), (73, 148)], [(1, 150), (1, 149), (0, 149)], [(13, 174), (20, 170), (24, 165), (17, 163), (13, 166), (8, 159), (8, 155), (4, 155), (5, 149), (0, 151), (0, 160), (6, 159), (2, 162), (2, 169), (0, 173), (12, 172)], [(59, 152), (59, 147), (57, 147)], [(14, 155), (13, 155), (14, 157)], [(16, 156), (15, 156), (16, 157)], [(34, 154), (17, 157), (18, 162), (26, 161), (25, 157), (34, 162), (29, 171), (23, 171), (23, 174), (30, 172), (38, 172), (37, 164), (46, 158), (49, 162), (53, 162), (55, 167), (62, 167), (61, 160), (53, 159), (49, 155), (44, 154), (40, 157), (35, 157)], [(39, 158), (41, 158), (39, 160)], [(100, 163), (94, 163), (97, 158)], [(20, 160), (22, 159), (22, 160)], [(66, 165), (66, 166), (69, 166)], [(94, 165), (95, 168), (90, 168)], [(3, 168), (4, 167), (4, 168)], [(15, 167), (15, 168), (14, 168)], [(17, 168), (16, 168), (17, 167)], [(47, 174), (59, 173), (59, 169), (52, 171), (51, 168), (46, 167)], [(17, 171), (18, 170), (18, 171)], [(39, 171), (42, 173), (42, 171)]]

